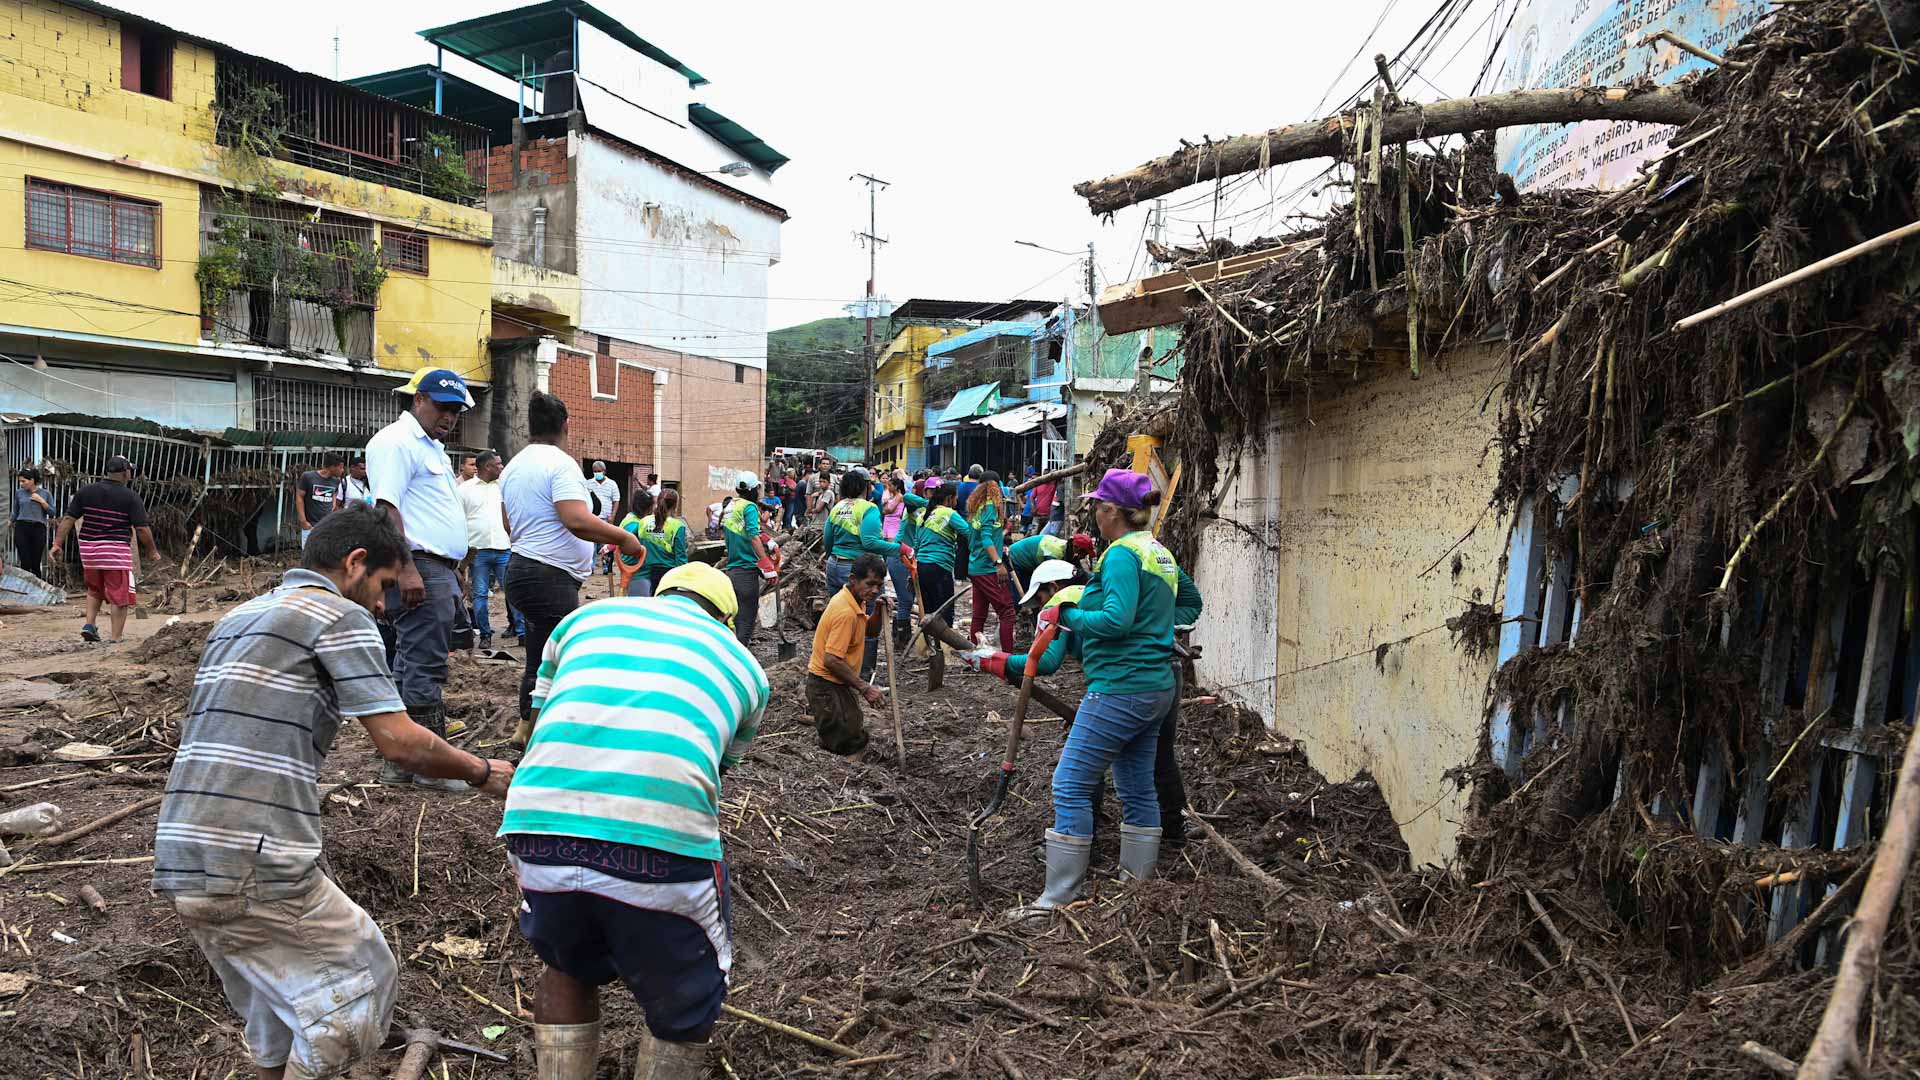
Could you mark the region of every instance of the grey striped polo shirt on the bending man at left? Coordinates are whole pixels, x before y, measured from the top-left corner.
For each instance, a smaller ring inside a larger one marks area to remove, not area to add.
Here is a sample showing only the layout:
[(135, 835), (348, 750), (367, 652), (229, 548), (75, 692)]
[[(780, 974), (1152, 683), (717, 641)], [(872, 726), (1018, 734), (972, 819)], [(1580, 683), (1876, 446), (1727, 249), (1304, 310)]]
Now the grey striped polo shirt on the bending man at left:
[(321, 855), (315, 782), (344, 717), (399, 713), (380, 630), (313, 571), (207, 634), (154, 832), (154, 888), (303, 896)]

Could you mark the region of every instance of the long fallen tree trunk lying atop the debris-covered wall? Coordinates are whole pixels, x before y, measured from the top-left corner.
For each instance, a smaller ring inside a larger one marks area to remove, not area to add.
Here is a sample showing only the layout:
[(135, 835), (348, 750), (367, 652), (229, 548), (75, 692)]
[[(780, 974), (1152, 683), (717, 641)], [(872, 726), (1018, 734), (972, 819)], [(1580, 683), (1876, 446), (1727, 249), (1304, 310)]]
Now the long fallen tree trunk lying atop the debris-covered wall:
[[(1638, 119), (1647, 123), (1688, 123), (1701, 108), (1682, 96), (1684, 83), (1657, 90), (1628, 86), (1588, 86), (1572, 90), (1513, 90), (1480, 98), (1452, 98), (1427, 106), (1405, 106), (1386, 113), (1380, 142), (1407, 142), (1440, 135), (1467, 135), (1530, 123), (1572, 123), (1580, 119)], [(1092, 213), (1114, 213), (1202, 181), (1252, 173), (1254, 169), (1338, 158), (1359, 113), (1275, 127), (1260, 135), (1236, 135), (1223, 142), (1183, 146), (1165, 158), (1114, 173), (1100, 181), (1073, 184)]]

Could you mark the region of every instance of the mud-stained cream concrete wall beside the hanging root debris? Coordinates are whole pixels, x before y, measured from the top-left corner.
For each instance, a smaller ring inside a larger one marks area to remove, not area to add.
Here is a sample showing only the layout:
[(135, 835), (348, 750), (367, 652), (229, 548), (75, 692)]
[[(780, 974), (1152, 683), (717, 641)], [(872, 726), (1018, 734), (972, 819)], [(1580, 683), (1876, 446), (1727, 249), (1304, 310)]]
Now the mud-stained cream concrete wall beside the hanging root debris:
[[(1371, 773), (1413, 861), (1442, 863), (1463, 805), (1442, 773), (1475, 757), (1494, 667), (1461, 655), (1444, 625), (1467, 600), (1500, 605), (1507, 527), (1480, 521), (1455, 550), (1453, 573), (1446, 552), (1494, 488), (1494, 413), (1480, 402), (1498, 350), (1423, 367), (1417, 382), (1390, 363), (1359, 382), (1331, 379), (1279, 415), (1271, 454), (1240, 463), (1236, 511), (1223, 509), (1271, 534), (1279, 552), (1233, 527), (1208, 528), (1198, 580), (1204, 623), (1215, 626), (1200, 640), (1208, 682), (1271, 675), (1267, 723), (1300, 740), (1331, 780)], [(1271, 511), (1261, 515), (1261, 503)], [(1236, 578), (1269, 559), (1271, 577)], [(1212, 651), (1221, 634), (1265, 632), (1258, 607), (1238, 609), (1233, 580), (1275, 582), (1269, 673), (1235, 646)], [(1377, 659), (1377, 646), (1409, 636)], [(1240, 692), (1258, 701), (1258, 688)]]

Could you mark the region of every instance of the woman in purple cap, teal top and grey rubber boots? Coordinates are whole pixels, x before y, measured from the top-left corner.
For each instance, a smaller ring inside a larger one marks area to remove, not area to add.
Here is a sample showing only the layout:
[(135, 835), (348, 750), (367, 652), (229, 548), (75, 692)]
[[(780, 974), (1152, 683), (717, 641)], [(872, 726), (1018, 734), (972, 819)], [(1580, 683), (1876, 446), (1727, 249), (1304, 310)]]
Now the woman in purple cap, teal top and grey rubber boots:
[(1087, 698), (1054, 769), (1046, 888), (1008, 913), (1012, 919), (1041, 917), (1079, 897), (1092, 857), (1092, 796), (1108, 767), (1123, 807), (1121, 880), (1150, 876), (1160, 859), (1154, 751), (1175, 698), (1173, 609), (1181, 567), (1146, 530), (1160, 503), (1150, 479), (1108, 469), (1087, 498), (1106, 552), (1077, 605), (1041, 611), (1043, 626), (1060, 623), (1077, 638)]

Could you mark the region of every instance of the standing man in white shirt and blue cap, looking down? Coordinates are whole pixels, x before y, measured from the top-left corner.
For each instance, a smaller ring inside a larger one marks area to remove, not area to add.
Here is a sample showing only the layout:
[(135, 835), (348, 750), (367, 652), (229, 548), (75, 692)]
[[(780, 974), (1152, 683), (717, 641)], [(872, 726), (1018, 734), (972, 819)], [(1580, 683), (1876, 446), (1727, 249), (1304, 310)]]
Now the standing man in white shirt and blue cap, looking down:
[[(413, 723), (444, 738), (442, 686), (461, 598), (457, 567), (467, 557), (467, 509), (440, 440), (474, 400), (467, 380), (444, 367), (419, 371), (399, 392), (411, 394), (407, 411), (367, 440), (367, 482), (374, 502), (392, 509), (409, 548), (399, 582), (386, 594), (394, 682)], [(467, 790), (461, 780), (417, 778), (392, 761), (382, 765), (380, 782)]]

